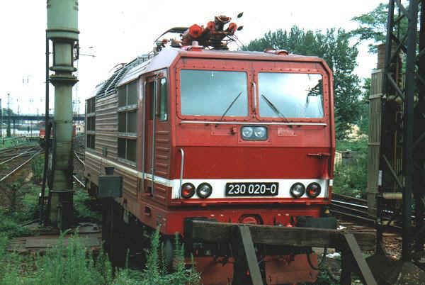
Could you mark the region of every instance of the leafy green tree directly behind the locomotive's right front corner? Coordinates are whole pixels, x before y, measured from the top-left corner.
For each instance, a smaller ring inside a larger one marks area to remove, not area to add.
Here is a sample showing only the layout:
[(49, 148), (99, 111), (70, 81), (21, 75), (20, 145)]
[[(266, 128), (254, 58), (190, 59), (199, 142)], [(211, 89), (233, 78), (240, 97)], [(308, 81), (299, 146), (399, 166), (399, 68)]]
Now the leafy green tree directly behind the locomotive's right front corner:
[(350, 45), (350, 37), (351, 34), (342, 29), (314, 32), (293, 26), (289, 32), (281, 29), (269, 31), (263, 38), (251, 40), (242, 50), (263, 51), (272, 47), (324, 58), (334, 72), (336, 138), (342, 139), (347, 135), (349, 124), (358, 121), (360, 114), (360, 79), (353, 74), (358, 50), (355, 45)]

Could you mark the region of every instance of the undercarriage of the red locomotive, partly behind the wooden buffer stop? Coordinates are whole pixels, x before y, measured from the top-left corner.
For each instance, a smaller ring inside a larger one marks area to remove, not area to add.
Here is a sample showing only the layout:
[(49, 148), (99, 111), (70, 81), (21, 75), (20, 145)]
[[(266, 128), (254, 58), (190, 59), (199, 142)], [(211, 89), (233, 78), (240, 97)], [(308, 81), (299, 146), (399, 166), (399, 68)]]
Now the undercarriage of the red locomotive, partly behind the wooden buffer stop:
[[(103, 199), (102, 207), (102, 238), (111, 262), (118, 267), (124, 267), (128, 262), (130, 267), (142, 269), (154, 229), (141, 223), (113, 199)], [(188, 234), (191, 220), (213, 219), (186, 219), (185, 233), (179, 235), (185, 247), (186, 264), (190, 267), (195, 262), (198, 272), (202, 272), (203, 284), (227, 284), (234, 278), (238, 281), (233, 284), (249, 284), (250, 273), (246, 264), (235, 263), (241, 251), (237, 249), (239, 245), (235, 242), (192, 240)], [(162, 258), (173, 264), (175, 236), (160, 235), (160, 239), (164, 245), (162, 253), (165, 254)], [(317, 255), (311, 247), (256, 244), (254, 248), (264, 284), (312, 282), (317, 278), (318, 272), (314, 269), (317, 267)]]

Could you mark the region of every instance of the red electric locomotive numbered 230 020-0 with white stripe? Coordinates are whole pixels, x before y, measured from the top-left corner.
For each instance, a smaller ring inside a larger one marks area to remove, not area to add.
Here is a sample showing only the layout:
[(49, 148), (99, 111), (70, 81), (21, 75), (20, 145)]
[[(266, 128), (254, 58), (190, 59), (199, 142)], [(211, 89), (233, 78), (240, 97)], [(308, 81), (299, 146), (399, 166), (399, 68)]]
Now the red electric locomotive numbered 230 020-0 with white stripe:
[[(158, 227), (170, 251), (196, 218), (323, 224), (335, 146), (331, 70), (318, 57), (226, 50), (222, 38), (236, 30), (220, 26), (228, 20), (194, 25), (181, 47), (120, 67), (86, 101), (86, 185), (114, 197), (103, 200), (103, 238), (115, 259), (126, 248), (142, 252), (144, 233)], [(203, 284), (232, 280), (232, 262), (217, 258), (231, 256), (227, 245), (187, 247)], [(257, 255), (267, 284), (317, 276), (301, 250)]]

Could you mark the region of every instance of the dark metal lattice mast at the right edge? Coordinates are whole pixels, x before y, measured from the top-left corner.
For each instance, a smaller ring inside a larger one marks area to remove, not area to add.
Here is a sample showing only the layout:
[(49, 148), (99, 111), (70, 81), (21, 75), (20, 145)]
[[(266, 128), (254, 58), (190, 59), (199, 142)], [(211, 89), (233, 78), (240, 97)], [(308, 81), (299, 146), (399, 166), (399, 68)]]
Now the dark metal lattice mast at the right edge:
[[(425, 191), (424, 11), (424, 1), (410, 0), (408, 7), (397, 0), (389, 1), (382, 76), (378, 238), (385, 230), (382, 220), (387, 212), (382, 210), (391, 206), (395, 214), (401, 211), (404, 262), (412, 259), (412, 244), (416, 245), (416, 251), (424, 248), (421, 238)], [(401, 24), (405, 19), (407, 30)], [(400, 76), (403, 73), (404, 78)], [(416, 216), (415, 223), (412, 215)]]

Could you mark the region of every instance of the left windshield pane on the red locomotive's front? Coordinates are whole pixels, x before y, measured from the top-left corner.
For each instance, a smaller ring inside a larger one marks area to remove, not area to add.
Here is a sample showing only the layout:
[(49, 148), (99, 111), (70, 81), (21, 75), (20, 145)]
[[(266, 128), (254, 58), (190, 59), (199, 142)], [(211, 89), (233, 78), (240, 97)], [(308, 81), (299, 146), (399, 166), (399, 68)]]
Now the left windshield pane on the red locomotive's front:
[(248, 116), (246, 72), (183, 69), (181, 114), (188, 116)]

